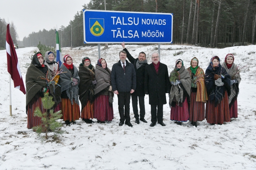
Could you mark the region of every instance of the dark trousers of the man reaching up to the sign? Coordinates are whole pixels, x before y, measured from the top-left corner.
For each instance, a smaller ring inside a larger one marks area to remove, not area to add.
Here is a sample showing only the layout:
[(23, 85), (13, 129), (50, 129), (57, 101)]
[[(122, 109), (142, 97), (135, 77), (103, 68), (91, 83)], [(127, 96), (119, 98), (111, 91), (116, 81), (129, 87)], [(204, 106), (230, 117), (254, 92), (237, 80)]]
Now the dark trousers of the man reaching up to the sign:
[(132, 95), (132, 109), (134, 113), (135, 119), (139, 118), (138, 114), (138, 98), (139, 98), (139, 105), (140, 105), (140, 118), (145, 117), (145, 103), (144, 103), (144, 97), (145, 96), (137, 96), (137, 95)]

